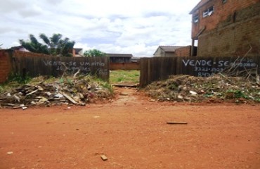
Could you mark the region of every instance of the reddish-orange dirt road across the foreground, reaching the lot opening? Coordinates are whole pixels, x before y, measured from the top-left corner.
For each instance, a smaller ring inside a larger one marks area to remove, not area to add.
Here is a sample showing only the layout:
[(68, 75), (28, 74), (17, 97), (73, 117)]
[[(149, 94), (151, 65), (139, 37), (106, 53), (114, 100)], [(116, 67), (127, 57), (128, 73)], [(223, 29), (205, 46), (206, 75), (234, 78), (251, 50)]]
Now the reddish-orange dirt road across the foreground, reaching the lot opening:
[(157, 103), (117, 92), (106, 104), (0, 109), (0, 168), (260, 168), (259, 104)]

